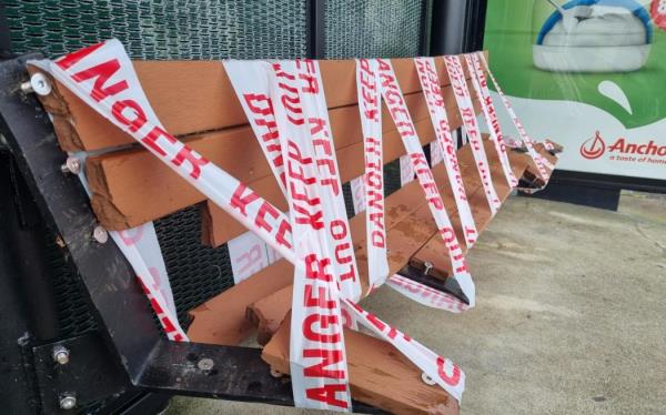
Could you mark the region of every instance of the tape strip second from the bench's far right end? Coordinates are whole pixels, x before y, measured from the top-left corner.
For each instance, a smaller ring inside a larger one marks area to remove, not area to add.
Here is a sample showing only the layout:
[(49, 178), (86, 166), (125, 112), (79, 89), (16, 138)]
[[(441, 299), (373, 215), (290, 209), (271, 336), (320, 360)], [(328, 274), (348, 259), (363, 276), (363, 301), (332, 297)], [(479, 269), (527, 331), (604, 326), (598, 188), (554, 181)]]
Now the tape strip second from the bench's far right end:
[(495, 144), (495, 151), (497, 151), (504, 178), (506, 179), (508, 186), (513, 189), (518, 185), (518, 179), (516, 179), (511, 169), (511, 163), (508, 162), (506, 145), (502, 139), (502, 128), (500, 126), (500, 120), (497, 120), (497, 113), (495, 112), (495, 107), (493, 105), (491, 93), (488, 92), (487, 80), (483, 68), (481, 67), (481, 61), (476, 54), (471, 53), (465, 54), (465, 62), (467, 63), (467, 70), (472, 78), (472, 88), (476, 93), (476, 99), (481, 103), (483, 118), (485, 119), (486, 126), (491, 133), (491, 140)]

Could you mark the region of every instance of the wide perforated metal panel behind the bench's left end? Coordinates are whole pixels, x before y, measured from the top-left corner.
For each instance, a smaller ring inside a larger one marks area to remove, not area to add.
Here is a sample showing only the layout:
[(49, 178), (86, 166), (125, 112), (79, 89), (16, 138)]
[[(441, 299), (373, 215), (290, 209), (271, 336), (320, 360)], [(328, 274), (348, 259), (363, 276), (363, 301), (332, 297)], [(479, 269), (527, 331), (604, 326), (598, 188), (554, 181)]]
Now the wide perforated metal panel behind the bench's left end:
[(12, 49), (57, 57), (118, 38), (135, 59), (305, 57), (307, 0), (6, 0)]

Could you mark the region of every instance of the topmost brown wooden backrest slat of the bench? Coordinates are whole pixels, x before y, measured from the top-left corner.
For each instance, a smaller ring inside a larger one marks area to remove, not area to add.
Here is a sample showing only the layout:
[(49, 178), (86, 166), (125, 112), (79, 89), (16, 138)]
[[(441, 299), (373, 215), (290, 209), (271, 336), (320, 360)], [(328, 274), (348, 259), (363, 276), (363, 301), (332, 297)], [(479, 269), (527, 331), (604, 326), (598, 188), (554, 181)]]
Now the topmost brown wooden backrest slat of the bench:
[[(442, 85), (451, 82), (442, 59), (436, 59)], [(133, 61), (145, 95), (167, 131), (182, 136), (243, 125), (248, 120), (219, 61)], [(403, 93), (421, 91), (412, 59), (393, 59)], [(356, 103), (353, 60), (320, 61), (330, 109)], [(30, 72), (40, 71), (31, 67)], [(92, 151), (134, 143), (59, 82), (54, 92), (40, 98), (53, 115), (60, 145), (65, 151)]]

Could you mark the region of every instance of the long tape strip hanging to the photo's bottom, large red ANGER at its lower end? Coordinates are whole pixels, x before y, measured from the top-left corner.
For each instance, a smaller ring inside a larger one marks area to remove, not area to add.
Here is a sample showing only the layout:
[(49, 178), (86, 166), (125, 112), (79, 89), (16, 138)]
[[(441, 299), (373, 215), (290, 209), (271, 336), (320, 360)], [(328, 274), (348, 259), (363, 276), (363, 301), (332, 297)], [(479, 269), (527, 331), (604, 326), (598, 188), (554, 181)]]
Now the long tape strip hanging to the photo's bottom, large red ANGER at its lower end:
[[(335, 200), (322, 181), (331, 171), (322, 174), (321, 153), (317, 154), (316, 140), (313, 140), (313, 129), (321, 125), (323, 114), (311, 98), (323, 85), (315, 83), (316, 67), (309, 69), (312, 77), (300, 77), (304, 64), (310, 63), (276, 61), (270, 73), (297, 261), (290, 336), (292, 389), (297, 407), (351, 411), (341, 293), (337, 291), (342, 273), (332, 264), (335, 249), (330, 237)], [(320, 121), (311, 124), (311, 118)]]

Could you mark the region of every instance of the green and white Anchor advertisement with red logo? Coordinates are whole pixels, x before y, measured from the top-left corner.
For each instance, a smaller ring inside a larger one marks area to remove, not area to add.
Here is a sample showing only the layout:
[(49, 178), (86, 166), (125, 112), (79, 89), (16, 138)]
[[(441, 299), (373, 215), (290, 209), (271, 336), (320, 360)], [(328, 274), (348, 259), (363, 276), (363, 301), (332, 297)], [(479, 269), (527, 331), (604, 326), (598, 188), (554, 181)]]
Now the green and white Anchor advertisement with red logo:
[(488, 0), (491, 68), (533, 138), (565, 145), (558, 169), (666, 180), (665, 17), (665, 0)]

